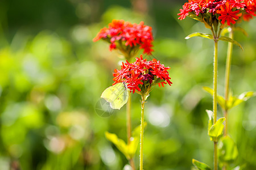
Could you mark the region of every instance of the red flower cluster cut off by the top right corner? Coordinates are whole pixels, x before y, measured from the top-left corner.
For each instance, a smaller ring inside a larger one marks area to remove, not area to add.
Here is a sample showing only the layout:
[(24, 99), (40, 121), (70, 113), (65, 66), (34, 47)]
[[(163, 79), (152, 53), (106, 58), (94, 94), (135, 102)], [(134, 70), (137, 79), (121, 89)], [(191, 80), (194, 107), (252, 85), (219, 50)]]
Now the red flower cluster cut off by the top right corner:
[(198, 20), (204, 21), (204, 14), (210, 14), (215, 15), (221, 24), (227, 22), (230, 25), (236, 23), (242, 13), (243, 18), (248, 20), (252, 15), (256, 16), (255, 12), (256, 0), (189, 0), (177, 15), (180, 15), (180, 20), (196, 15)]

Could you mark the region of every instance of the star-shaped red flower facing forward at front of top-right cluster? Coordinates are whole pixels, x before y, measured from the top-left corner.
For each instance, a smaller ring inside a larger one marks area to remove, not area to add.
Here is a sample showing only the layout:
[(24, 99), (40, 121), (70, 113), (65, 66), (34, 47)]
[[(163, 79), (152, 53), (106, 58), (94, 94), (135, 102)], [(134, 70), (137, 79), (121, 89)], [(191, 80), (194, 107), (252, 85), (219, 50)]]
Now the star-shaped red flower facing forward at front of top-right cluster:
[[(225, 21), (230, 25), (230, 23), (234, 24), (236, 23), (235, 20), (239, 19), (239, 16), (242, 14), (238, 14), (240, 11), (232, 11), (232, 6), (229, 5), (228, 2), (225, 3), (225, 5), (222, 5), (221, 10), (217, 11), (217, 14), (220, 14), (218, 17), (219, 20), (221, 20), (221, 24), (225, 24)], [(238, 14), (238, 15), (237, 15)]]

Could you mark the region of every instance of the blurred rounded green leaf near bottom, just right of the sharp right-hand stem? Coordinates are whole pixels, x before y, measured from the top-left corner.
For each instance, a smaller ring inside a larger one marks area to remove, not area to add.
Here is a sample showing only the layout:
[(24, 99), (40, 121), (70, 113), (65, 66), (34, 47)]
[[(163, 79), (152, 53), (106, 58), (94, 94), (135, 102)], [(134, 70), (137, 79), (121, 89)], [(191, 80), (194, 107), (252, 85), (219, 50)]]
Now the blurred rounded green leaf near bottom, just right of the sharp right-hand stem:
[(236, 143), (229, 136), (222, 137), (218, 142), (218, 158), (222, 163), (233, 163), (238, 156)]

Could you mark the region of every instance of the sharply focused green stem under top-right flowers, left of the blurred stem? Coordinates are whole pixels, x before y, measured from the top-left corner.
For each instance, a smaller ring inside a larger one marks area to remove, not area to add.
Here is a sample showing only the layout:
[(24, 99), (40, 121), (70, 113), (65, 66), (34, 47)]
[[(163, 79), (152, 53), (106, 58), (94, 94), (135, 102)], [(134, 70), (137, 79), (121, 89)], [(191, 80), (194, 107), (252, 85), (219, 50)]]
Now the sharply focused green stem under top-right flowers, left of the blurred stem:
[[(218, 40), (214, 39), (213, 59), (213, 125), (217, 121), (217, 72), (218, 70)], [(214, 170), (218, 169), (217, 142), (214, 142)]]

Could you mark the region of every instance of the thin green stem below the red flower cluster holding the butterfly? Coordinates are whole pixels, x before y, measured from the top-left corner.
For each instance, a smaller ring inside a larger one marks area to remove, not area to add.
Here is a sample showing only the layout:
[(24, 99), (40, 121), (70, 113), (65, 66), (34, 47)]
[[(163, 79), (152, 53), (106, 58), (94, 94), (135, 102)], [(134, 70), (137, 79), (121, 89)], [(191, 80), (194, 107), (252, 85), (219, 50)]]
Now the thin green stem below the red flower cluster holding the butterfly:
[(142, 95), (142, 100), (141, 100), (141, 148), (139, 152), (139, 170), (143, 170), (143, 133), (144, 133), (144, 104), (146, 103), (145, 101), (145, 96)]

